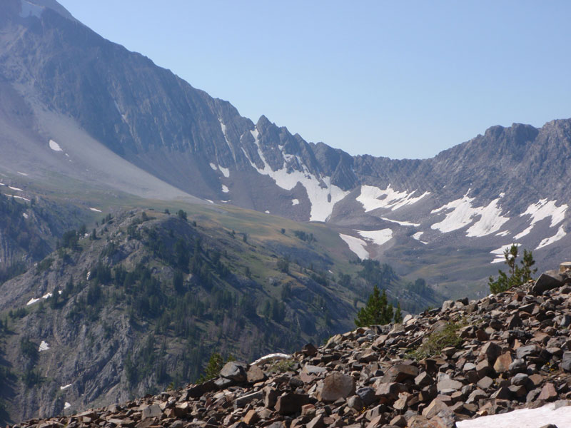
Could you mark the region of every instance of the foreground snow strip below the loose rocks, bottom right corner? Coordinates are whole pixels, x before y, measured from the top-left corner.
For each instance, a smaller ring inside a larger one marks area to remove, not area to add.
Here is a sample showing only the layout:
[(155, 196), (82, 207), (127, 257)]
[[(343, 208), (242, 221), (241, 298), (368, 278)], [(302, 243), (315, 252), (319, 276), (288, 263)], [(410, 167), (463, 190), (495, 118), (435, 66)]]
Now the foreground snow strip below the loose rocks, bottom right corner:
[(571, 406), (555, 409), (555, 403), (552, 403), (537, 409), (519, 409), (456, 422), (458, 428), (538, 428), (546, 424), (571, 428)]

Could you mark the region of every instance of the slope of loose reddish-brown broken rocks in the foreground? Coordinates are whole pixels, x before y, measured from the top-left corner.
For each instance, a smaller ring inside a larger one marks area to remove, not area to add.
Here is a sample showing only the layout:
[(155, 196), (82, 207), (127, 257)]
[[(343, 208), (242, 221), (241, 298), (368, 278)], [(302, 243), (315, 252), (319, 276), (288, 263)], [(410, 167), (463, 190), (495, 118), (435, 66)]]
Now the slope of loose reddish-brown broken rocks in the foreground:
[[(571, 398), (571, 285), (550, 272), (402, 325), (358, 328), (217, 379), (24, 427), (455, 427)], [(548, 424), (550, 421), (545, 421)], [(16, 426), (15, 426), (16, 427)]]

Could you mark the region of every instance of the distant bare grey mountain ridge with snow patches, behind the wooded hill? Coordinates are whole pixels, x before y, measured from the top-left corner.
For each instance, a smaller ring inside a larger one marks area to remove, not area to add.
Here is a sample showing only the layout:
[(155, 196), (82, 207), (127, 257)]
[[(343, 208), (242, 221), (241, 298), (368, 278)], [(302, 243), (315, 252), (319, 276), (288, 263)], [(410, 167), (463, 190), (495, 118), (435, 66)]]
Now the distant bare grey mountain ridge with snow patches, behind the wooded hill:
[(253, 123), (56, 1), (5, 0), (0, 15), (6, 172), (325, 222), (354, 257), (421, 271), (453, 294), (466, 292), (461, 277), (494, 272), (512, 242), (540, 265), (565, 258), (569, 120), (493, 126), (426, 160), (350, 156), (265, 116)]

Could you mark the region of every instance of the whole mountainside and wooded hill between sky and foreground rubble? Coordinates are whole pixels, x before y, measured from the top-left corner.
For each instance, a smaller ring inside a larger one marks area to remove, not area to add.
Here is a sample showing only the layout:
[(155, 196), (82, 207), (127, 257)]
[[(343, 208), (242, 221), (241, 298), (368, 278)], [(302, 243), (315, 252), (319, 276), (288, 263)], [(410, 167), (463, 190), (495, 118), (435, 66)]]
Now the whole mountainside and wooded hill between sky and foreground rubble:
[[(411, 118), (414, 121), (414, 118)], [(56, 0), (0, 1), (0, 419), (124, 402), (567, 259), (571, 120), (424, 160), (256, 123)]]

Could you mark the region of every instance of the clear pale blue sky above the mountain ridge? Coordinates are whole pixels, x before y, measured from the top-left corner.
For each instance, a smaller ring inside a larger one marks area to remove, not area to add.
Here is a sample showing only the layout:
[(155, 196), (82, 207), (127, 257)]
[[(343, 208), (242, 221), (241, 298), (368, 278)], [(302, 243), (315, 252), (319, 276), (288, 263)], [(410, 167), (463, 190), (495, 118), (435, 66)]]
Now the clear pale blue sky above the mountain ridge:
[(571, 1), (59, 1), (254, 122), (353, 155), (571, 117)]

